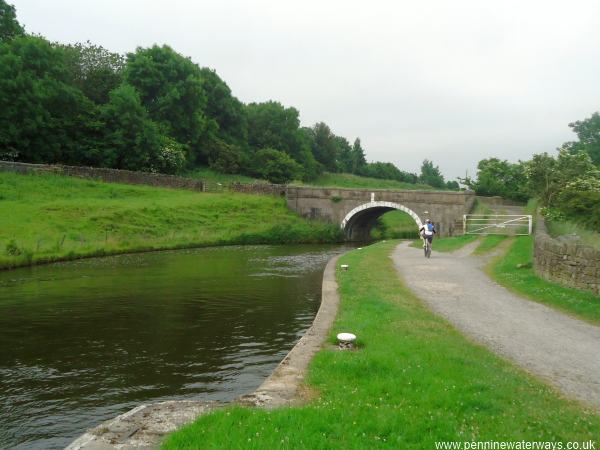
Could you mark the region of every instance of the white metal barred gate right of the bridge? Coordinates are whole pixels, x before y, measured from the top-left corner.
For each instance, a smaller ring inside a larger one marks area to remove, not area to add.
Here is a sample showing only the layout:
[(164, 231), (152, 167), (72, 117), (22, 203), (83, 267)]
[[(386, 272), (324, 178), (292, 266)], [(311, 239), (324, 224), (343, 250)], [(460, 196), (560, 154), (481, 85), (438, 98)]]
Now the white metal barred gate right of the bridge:
[(465, 214), (463, 230), (465, 234), (523, 236), (531, 234), (532, 217), (525, 214)]

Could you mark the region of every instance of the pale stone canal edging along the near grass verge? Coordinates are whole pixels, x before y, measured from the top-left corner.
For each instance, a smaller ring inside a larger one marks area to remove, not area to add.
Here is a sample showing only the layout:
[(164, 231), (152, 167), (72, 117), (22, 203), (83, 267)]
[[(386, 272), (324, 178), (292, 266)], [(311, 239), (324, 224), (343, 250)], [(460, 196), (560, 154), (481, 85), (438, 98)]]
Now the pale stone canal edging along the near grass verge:
[[(303, 401), (302, 381), (313, 356), (323, 346), (340, 302), (335, 268), (341, 255), (329, 260), (323, 272), (321, 305), (311, 327), (273, 373), (251, 394), (235, 403), (273, 409)], [(66, 450), (133, 450), (157, 448), (162, 438), (203, 414), (225, 406), (203, 401), (167, 401), (140, 405), (88, 430)]]

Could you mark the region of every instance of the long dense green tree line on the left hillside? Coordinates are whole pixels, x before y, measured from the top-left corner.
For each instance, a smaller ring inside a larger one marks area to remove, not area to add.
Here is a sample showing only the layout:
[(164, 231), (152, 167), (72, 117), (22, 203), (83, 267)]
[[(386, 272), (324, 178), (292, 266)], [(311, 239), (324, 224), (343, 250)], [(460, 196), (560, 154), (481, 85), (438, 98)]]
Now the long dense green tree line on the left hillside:
[(0, 159), (178, 173), (210, 166), (284, 183), (323, 171), (435, 187), (391, 163), (367, 163), (323, 122), (301, 127), (293, 107), (244, 104), (214, 70), (170, 47), (122, 56), (90, 42), (51, 43), (25, 33), (0, 0)]

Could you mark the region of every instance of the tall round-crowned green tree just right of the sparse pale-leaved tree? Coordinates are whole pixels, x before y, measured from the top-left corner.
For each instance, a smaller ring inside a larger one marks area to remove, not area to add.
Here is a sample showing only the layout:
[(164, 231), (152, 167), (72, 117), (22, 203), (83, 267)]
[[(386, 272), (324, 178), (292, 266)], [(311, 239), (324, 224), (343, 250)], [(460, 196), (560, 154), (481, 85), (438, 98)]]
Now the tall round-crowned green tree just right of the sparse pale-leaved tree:
[(138, 48), (127, 55), (125, 81), (139, 92), (150, 118), (185, 145), (194, 162), (207, 162), (206, 95), (196, 64), (166, 45)]

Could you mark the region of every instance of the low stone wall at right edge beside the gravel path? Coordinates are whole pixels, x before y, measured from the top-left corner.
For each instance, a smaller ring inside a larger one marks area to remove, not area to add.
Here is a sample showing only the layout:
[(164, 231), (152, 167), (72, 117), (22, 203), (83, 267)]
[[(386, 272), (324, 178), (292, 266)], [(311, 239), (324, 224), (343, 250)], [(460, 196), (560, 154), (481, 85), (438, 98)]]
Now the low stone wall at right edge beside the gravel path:
[(541, 217), (535, 231), (533, 267), (546, 280), (600, 295), (600, 250), (552, 238)]

